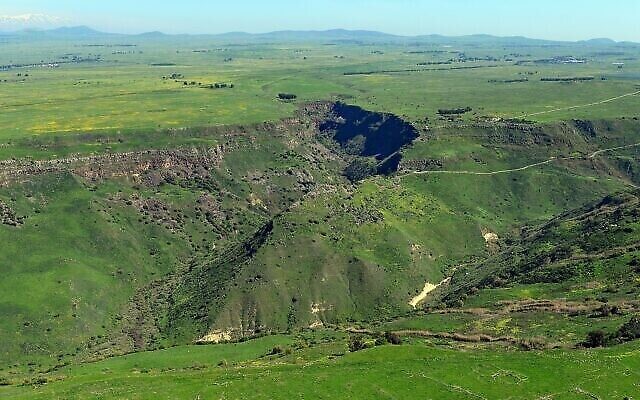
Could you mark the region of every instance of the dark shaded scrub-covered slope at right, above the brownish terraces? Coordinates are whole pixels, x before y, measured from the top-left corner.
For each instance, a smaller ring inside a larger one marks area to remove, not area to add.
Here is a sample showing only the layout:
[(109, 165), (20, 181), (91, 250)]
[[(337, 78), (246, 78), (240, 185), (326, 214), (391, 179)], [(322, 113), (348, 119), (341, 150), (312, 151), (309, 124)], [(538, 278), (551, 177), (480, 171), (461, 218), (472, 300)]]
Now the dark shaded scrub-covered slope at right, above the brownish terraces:
[(640, 289), (639, 194), (610, 195), (523, 229), (499, 254), (458, 269), (442, 299), (451, 303), (482, 288), (542, 284), (552, 296), (635, 300)]

